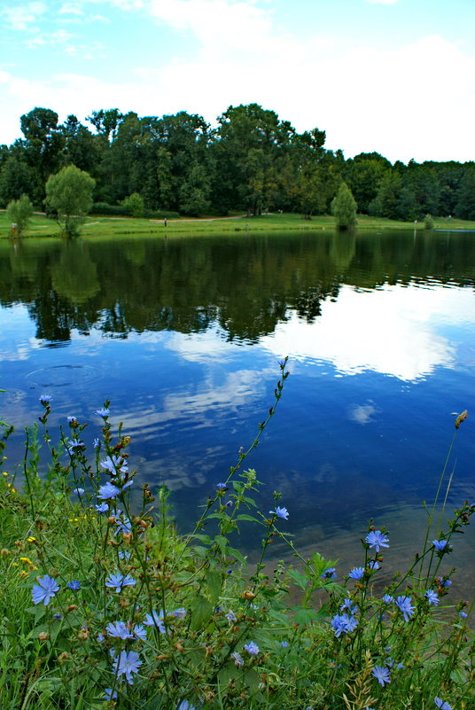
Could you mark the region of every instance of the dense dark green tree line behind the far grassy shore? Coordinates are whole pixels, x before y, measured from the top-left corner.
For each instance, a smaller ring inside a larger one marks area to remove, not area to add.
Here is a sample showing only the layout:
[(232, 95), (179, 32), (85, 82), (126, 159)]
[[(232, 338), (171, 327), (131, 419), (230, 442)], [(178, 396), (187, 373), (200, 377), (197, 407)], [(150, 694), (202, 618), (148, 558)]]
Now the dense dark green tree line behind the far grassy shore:
[(94, 178), (95, 208), (110, 214), (183, 215), (282, 210), (327, 214), (346, 183), (361, 214), (404, 221), (426, 214), (475, 219), (475, 162), (392, 164), (378, 152), (345, 160), (325, 131), (298, 133), (260, 105), (230, 106), (212, 128), (198, 114), (94, 111), (84, 125), (48, 108), (20, 117), (22, 138), (0, 145), (0, 207), (74, 165)]

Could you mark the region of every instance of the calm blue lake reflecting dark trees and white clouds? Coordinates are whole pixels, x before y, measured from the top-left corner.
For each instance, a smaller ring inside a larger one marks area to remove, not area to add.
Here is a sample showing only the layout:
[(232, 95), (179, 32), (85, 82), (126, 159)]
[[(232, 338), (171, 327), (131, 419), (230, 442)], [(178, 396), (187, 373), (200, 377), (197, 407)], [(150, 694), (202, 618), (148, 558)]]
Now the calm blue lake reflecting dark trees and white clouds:
[[(10, 462), (41, 394), (51, 430), (74, 415), (89, 443), (110, 399), (137, 479), (167, 484), (185, 531), (253, 441), (288, 355), (283, 399), (246, 465), (264, 513), (282, 492), (281, 524), (305, 554), (347, 573), (374, 519), (390, 531), (381, 579), (411, 559), (464, 409), (448, 503), (475, 501), (475, 234), (26, 239), (0, 242), (0, 269)], [(247, 529), (240, 544), (259, 549)], [(467, 596), (473, 530), (454, 546)]]

